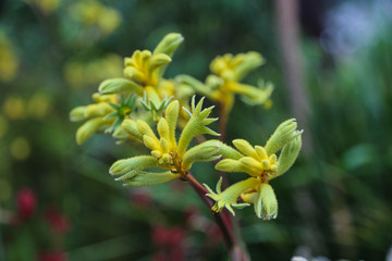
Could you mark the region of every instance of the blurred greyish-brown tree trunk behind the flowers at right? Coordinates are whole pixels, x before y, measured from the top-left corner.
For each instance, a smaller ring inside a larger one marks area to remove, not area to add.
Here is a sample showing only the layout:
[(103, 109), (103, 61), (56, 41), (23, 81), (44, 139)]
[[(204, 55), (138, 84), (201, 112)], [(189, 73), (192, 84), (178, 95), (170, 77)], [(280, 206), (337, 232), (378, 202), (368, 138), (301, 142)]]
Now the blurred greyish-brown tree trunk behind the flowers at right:
[[(291, 97), (291, 110), (304, 128), (303, 152), (311, 154), (310, 129), (308, 128), (309, 105), (304, 86), (304, 71), (298, 32), (298, 1), (275, 0), (275, 18), (279, 44), (283, 61), (285, 85)], [(317, 226), (316, 207), (310, 192), (301, 188), (294, 192), (297, 211), (304, 221), (303, 241), (317, 254), (326, 253), (322, 234)]]

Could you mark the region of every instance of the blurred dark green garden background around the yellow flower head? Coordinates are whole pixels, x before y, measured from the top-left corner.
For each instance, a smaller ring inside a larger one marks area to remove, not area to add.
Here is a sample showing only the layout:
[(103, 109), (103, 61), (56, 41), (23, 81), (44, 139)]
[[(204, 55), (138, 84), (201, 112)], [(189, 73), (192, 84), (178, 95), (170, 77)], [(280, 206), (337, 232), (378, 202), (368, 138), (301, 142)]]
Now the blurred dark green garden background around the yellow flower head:
[[(271, 80), (273, 105), (238, 100), (228, 140), (262, 145), (292, 116), (305, 128), (298, 162), (272, 184), (278, 219), (237, 211), (252, 259), (392, 260), (392, 1), (317, 2), (299, 2), (302, 63), (287, 65), (274, 1), (0, 1), (0, 260), (228, 259), (188, 186), (122, 188), (108, 169), (137, 148), (103, 135), (78, 147), (69, 121), (124, 57), (171, 32), (185, 41), (168, 77), (204, 80), (225, 52), (266, 58), (246, 82)], [(287, 66), (302, 69), (304, 110)], [(213, 185), (212, 170), (194, 173)]]

